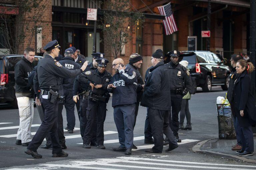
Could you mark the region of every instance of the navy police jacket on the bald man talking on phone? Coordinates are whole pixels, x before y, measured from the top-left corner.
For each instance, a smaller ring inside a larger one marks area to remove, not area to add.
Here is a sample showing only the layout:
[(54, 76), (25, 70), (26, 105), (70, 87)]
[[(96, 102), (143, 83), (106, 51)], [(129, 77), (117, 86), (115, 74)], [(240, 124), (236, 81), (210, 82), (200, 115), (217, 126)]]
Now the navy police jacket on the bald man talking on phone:
[(108, 89), (112, 95), (112, 107), (117, 105), (127, 105), (137, 102), (137, 77), (132, 68), (119, 70), (112, 78), (109, 84), (116, 88)]

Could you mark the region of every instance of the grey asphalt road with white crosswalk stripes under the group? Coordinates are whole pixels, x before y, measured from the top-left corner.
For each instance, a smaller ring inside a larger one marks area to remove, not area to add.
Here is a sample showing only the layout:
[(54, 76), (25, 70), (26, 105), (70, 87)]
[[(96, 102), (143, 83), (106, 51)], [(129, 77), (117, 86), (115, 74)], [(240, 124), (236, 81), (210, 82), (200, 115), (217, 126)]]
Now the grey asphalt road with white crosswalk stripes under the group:
[[(42, 159), (34, 159), (24, 153), (26, 147), (15, 145), (17, 126), (19, 126), (19, 113), (10, 107), (0, 108), (0, 169), (256, 169), (255, 164), (238, 160), (230, 160), (208, 153), (193, 153), (191, 148), (198, 142), (218, 137), (218, 123), (216, 113), (216, 98), (225, 97), (226, 92), (220, 87), (214, 87), (210, 93), (199, 90), (189, 101), (192, 130), (180, 130), (182, 143), (172, 153), (148, 154), (145, 148), (152, 147), (144, 144), (144, 123), (146, 108), (140, 107), (137, 123), (134, 129), (134, 144), (139, 146), (131, 156), (123, 152), (114, 152), (112, 147), (119, 145), (118, 134), (113, 120), (111, 102), (107, 104), (107, 116), (104, 124), (106, 149), (82, 148), (82, 139), (79, 131), (79, 120), (76, 115), (76, 128), (73, 134), (64, 132), (69, 154), (66, 158), (51, 157), (52, 150), (41, 149)], [(64, 126), (66, 125), (66, 112), (63, 109)], [(6, 123), (6, 124), (5, 124)], [(8, 123), (8, 124), (7, 124)], [(31, 132), (36, 132), (41, 124), (37, 109), (34, 108), (34, 120)], [(185, 125), (185, 124), (184, 124)], [(43, 144), (45, 141), (43, 142)], [(164, 147), (164, 150), (167, 146)]]

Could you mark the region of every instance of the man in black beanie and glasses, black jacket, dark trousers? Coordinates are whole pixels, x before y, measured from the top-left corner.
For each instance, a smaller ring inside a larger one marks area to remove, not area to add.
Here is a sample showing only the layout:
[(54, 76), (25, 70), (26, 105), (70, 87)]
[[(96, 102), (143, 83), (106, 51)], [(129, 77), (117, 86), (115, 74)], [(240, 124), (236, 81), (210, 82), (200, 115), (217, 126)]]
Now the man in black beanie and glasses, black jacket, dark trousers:
[(162, 153), (163, 134), (169, 139), (169, 148), (165, 152), (178, 147), (176, 139), (169, 126), (169, 109), (166, 105), (171, 100), (169, 75), (163, 61), (163, 52), (161, 49), (152, 54), (151, 68), (148, 78), (145, 80), (145, 88), (141, 101), (141, 106), (148, 107), (148, 117), (154, 137), (154, 146), (152, 149), (145, 150), (149, 153)]

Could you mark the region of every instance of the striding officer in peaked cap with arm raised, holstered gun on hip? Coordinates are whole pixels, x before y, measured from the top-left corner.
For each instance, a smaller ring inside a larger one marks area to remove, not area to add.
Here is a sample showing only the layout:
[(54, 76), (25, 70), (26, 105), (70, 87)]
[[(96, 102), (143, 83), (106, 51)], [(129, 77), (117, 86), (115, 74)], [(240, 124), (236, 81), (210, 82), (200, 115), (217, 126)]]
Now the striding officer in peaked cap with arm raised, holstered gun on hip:
[[(57, 135), (57, 102), (61, 99), (57, 92), (59, 90), (60, 77), (70, 78), (79, 75), (85, 70), (87, 62), (83, 64), (81, 69), (68, 70), (67, 68), (62, 67), (62, 65), (54, 59), (59, 54), (59, 47), (59, 43), (56, 40), (49, 42), (44, 47), (48, 54), (38, 62), (37, 75), (35, 75), (38, 78), (40, 102), (44, 108), (44, 120), (25, 151), (25, 153), (32, 155), (35, 158), (42, 158), (42, 155), (37, 153), (37, 149), (48, 132), (50, 132), (52, 140), (52, 156), (68, 156), (67, 153), (62, 151)], [(36, 102), (39, 102), (38, 99)]]

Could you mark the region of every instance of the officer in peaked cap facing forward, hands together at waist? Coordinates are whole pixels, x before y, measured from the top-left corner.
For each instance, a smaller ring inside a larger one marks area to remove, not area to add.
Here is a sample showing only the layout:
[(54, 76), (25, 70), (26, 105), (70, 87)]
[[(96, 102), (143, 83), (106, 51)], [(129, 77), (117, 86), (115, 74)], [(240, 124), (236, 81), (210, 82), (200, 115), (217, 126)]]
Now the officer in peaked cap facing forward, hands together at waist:
[(97, 148), (105, 149), (104, 142), (104, 121), (106, 118), (106, 107), (109, 99), (107, 90), (108, 83), (111, 79), (111, 74), (106, 71), (107, 63), (105, 58), (96, 60), (98, 63), (97, 70), (86, 71), (78, 76), (78, 81), (82, 84), (89, 85), (88, 91), (88, 107), (86, 111), (87, 125), (83, 137), (83, 147), (91, 148), (90, 142), (97, 125)]

